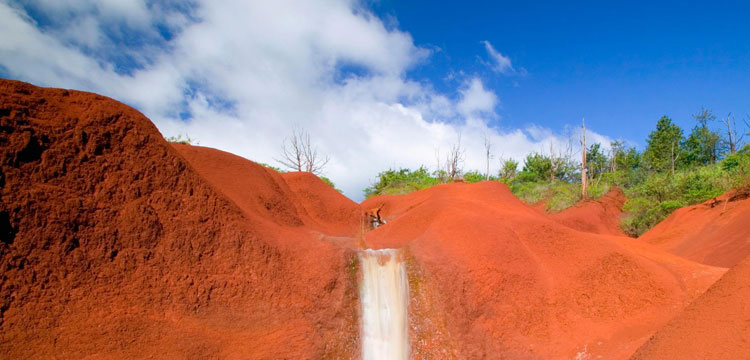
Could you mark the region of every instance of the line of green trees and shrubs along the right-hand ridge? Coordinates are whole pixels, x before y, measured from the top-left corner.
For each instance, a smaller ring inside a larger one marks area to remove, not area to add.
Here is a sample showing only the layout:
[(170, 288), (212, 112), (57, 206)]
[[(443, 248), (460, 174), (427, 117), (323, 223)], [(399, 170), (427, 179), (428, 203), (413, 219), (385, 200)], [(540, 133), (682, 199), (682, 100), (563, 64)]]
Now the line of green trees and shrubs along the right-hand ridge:
[[(621, 227), (627, 234), (639, 236), (680, 207), (750, 184), (746, 128), (739, 131), (731, 114), (719, 120), (707, 109), (701, 109), (693, 118), (695, 126), (686, 136), (671, 118), (662, 116), (642, 152), (623, 141), (611, 142), (606, 151), (602, 144), (594, 143), (584, 146), (585, 157), (581, 152), (581, 160), (577, 160), (569, 138), (566, 148), (550, 145), (549, 153), (530, 153), (522, 164), (501, 159), (496, 174), (489, 173), (491, 144), (487, 139), (487, 170), (462, 170), (464, 151), (459, 136), (444, 161), (438, 155), (435, 170), (425, 166), (388, 169), (380, 172), (364, 193), (369, 198), (407, 194), (447, 182), (492, 180), (505, 183), (526, 202), (544, 201), (549, 211), (559, 211), (584, 197), (597, 198), (611, 186), (619, 186), (628, 197), (623, 209), (627, 215)], [(748, 120), (744, 125), (750, 127)], [(582, 192), (584, 183), (588, 189)]]

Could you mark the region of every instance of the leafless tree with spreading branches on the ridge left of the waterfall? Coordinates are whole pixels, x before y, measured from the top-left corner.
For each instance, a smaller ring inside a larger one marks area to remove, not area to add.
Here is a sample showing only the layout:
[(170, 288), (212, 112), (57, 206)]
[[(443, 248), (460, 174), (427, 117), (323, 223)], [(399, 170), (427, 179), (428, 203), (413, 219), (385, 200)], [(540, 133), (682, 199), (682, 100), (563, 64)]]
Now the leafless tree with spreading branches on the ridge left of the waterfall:
[(304, 129), (292, 130), (291, 139), (284, 139), (281, 151), (283, 158), (276, 161), (294, 171), (318, 175), (330, 160), (318, 154), (318, 149), (310, 142), (310, 133)]

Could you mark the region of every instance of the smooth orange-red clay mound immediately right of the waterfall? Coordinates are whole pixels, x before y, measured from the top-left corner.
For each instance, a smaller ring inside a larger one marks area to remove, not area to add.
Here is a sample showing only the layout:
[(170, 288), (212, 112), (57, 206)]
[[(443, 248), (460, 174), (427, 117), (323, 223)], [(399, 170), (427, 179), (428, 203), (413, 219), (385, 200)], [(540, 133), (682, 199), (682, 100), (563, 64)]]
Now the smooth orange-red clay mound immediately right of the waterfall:
[(415, 358), (630, 356), (724, 269), (585, 233), (498, 182), (382, 196), (374, 248), (410, 254)]

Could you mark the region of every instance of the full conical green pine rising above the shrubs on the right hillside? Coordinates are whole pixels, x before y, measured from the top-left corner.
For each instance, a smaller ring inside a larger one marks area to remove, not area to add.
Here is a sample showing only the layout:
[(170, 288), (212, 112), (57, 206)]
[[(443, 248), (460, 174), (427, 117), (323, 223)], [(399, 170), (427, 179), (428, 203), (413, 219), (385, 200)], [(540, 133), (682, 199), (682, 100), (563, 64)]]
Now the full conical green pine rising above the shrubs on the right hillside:
[(656, 130), (648, 135), (648, 145), (643, 152), (644, 163), (653, 170), (674, 170), (682, 154), (684, 137), (682, 129), (672, 123), (672, 119), (662, 116), (656, 123)]

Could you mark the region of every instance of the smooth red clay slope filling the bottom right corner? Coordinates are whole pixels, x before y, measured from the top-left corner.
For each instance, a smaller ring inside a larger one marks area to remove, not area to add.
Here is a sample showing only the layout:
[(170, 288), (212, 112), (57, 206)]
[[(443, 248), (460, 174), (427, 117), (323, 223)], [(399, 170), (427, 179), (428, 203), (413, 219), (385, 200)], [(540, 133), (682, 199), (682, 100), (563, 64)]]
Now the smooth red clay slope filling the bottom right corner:
[(750, 257), (659, 330), (632, 359), (750, 358)]

